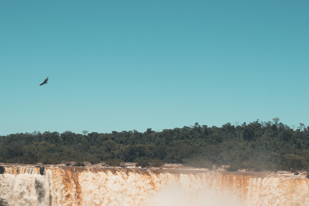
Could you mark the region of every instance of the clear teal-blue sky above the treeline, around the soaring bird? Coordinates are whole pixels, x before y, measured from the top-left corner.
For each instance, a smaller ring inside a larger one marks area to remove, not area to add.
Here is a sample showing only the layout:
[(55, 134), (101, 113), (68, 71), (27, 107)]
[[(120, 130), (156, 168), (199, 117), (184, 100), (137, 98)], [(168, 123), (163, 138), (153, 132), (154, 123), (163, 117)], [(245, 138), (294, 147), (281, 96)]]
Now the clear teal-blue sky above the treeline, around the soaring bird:
[(308, 11), (309, 1), (1, 1), (0, 135), (274, 117), (307, 127)]

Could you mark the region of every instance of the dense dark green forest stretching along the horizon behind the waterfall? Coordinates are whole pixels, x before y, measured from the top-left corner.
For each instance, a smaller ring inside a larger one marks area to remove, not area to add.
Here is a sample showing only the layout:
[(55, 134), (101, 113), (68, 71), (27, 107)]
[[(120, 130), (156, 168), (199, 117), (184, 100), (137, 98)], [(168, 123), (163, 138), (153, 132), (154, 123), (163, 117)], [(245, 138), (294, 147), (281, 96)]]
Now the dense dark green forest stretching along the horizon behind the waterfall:
[(147, 166), (165, 162), (230, 165), (228, 170), (308, 170), (309, 127), (302, 123), (292, 127), (275, 117), (268, 122), (235, 122), (222, 127), (195, 123), (162, 132), (149, 128), (145, 132), (17, 133), (0, 136), (0, 162), (139, 162)]

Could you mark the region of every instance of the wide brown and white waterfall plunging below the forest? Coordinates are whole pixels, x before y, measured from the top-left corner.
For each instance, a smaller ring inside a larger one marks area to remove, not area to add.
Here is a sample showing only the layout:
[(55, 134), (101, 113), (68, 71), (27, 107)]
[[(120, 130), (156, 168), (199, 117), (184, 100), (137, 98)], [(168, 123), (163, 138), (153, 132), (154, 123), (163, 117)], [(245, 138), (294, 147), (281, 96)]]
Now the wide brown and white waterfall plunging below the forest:
[(15, 206), (309, 205), (309, 179), (288, 173), (19, 165), (0, 172), (0, 198)]

